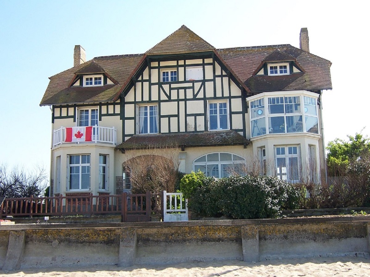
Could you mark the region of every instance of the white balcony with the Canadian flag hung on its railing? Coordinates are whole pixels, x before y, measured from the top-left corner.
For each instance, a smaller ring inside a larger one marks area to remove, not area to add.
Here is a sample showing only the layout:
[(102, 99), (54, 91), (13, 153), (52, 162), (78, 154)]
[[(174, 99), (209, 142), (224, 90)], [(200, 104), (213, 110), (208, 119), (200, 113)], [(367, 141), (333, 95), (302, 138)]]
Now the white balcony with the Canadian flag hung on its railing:
[(60, 127), (53, 132), (53, 147), (59, 144), (117, 144), (117, 129), (101, 126)]

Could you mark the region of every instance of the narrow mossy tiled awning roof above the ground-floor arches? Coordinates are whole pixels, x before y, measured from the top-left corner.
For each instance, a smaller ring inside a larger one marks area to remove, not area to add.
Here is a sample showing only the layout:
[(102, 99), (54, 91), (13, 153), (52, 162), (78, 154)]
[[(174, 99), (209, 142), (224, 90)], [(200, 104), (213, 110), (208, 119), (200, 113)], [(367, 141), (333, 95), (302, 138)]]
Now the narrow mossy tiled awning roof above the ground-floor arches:
[(249, 140), (234, 130), (206, 131), (202, 133), (173, 133), (134, 135), (117, 146), (120, 150), (248, 145)]

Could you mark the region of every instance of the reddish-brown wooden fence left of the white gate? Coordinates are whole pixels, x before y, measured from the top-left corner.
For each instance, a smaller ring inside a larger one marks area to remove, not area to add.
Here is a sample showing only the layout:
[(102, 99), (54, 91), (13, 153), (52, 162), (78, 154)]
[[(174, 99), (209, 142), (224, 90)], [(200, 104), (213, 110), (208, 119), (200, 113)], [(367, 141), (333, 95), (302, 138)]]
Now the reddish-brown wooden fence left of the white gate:
[[(151, 192), (146, 194), (5, 198), (3, 216), (67, 216), (121, 214), (122, 222), (150, 221)], [(155, 210), (155, 209), (154, 209)]]

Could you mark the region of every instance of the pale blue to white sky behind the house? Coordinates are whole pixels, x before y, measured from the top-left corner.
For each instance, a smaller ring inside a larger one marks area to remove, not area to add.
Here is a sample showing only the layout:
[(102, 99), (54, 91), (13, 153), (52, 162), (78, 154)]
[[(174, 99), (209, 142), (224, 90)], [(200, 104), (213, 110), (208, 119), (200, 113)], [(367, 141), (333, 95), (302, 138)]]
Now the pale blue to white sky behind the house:
[(87, 60), (138, 54), (186, 25), (216, 48), (291, 44), (300, 28), (310, 52), (332, 62), (323, 92), (326, 144), (370, 136), (370, 58), (365, 1), (6, 1), (0, 0), (0, 165), (50, 167), (51, 112), (40, 101), (49, 79)]

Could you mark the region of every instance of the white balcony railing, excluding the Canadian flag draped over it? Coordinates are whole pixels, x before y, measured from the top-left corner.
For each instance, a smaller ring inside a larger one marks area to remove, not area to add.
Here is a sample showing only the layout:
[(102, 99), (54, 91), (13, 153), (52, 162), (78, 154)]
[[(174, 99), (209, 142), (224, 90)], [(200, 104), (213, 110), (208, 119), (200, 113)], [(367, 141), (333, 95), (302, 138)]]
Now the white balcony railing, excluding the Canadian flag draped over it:
[[(57, 146), (58, 144), (63, 143), (110, 143), (110, 144), (117, 144), (117, 129), (114, 127), (101, 127), (101, 126), (91, 126), (92, 127), (92, 136), (91, 141), (81, 141), (81, 142), (70, 142), (66, 141), (66, 127), (60, 127), (57, 130), (53, 131), (53, 147)], [(72, 133), (74, 134), (80, 127), (71, 127)]]

